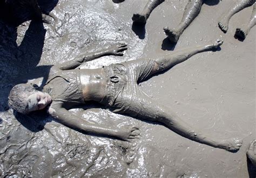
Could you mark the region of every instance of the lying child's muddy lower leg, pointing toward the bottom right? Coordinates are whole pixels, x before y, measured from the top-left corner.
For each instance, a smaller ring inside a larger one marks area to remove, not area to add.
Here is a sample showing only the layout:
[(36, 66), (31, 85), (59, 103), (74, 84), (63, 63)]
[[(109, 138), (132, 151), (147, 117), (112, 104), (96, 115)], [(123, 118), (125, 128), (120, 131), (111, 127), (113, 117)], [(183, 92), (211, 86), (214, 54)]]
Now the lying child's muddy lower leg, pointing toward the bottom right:
[(179, 118), (176, 113), (172, 112), (169, 108), (156, 103), (153, 99), (143, 94), (142, 91), (138, 91), (135, 96), (122, 97), (122, 99), (123, 103), (127, 104), (123, 105), (124, 109), (122, 112), (119, 110), (119, 113), (163, 123), (170, 130), (180, 134), (180, 136), (197, 141), (201, 144), (223, 148), (231, 152), (238, 151), (242, 144), (242, 140), (237, 138), (215, 139), (211, 138), (211, 136), (206, 136), (204, 133), (201, 133), (200, 130)]

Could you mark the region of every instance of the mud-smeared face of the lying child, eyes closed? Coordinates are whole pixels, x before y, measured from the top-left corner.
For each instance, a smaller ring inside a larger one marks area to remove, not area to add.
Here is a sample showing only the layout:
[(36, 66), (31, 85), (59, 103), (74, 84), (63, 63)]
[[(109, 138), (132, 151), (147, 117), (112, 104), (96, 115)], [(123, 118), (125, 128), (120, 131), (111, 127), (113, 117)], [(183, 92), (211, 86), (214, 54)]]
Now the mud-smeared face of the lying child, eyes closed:
[(51, 102), (52, 99), (48, 93), (37, 91), (28, 98), (28, 112), (42, 110)]

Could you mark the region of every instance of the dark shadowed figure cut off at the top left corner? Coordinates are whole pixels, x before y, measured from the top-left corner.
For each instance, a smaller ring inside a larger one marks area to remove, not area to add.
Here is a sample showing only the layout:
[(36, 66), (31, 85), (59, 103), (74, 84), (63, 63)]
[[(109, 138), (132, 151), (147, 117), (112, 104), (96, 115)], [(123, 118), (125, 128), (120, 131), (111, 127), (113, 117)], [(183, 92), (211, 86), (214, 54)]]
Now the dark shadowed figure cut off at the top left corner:
[[(3, 0), (1, 0), (3, 1)], [(50, 24), (53, 22), (51, 16), (46, 15), (39, 8), (37, 0), (7, 0), (2, 3), (2, 11), (6, 20), (16, 25), (31, 19), (42, 20), (42, 22)]]

